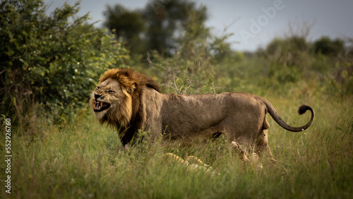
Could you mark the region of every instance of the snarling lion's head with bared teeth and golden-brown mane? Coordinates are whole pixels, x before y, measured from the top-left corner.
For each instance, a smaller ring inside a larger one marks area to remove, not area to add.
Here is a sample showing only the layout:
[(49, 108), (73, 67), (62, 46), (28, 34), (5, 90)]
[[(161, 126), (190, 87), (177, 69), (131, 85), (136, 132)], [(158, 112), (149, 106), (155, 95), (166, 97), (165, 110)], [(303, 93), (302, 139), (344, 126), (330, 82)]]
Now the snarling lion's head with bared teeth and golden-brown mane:
[(145, 87), (160, 90), (155, 80), (132, 69), (114, 68), (105, 72), (90, 97), (95, 118), (100, 123), (127, 128), (138, 116)]

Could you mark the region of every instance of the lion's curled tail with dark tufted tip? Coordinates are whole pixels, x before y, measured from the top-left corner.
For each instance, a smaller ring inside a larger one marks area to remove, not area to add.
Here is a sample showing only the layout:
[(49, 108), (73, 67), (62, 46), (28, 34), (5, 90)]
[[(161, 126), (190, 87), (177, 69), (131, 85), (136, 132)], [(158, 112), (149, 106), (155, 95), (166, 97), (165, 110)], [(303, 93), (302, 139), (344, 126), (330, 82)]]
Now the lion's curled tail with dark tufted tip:
[(294, 126), (289, 126), (285, 121), (280, 118), (280, 116), (277, 114), (276, 109), (273, 107), (273, 105), (268, 102), (268, 100), (263, 99), (263, 102), (265, 102), (266, 107), (268, 109), (268, 113), (272, 116), (272, 118), (278, 123), (278, 125), (282, 126), (282, 128), (285, 128), (287, 131), (292, 131), (292, 132), (299, 132), (299, 131), (304, 131), (306, 128), (309, 128), (311, 126), (311, 123), (313, 123), (313, 119), (315, 117), (315, 112), (311, 107), (306, 106), (306, 105), (301, 105), (298, 109), (299, 114), (304, 114), (307, 110), (311, 111), (311, 119), (306, 125), (300, 126), (300, 127), (294, 127)]

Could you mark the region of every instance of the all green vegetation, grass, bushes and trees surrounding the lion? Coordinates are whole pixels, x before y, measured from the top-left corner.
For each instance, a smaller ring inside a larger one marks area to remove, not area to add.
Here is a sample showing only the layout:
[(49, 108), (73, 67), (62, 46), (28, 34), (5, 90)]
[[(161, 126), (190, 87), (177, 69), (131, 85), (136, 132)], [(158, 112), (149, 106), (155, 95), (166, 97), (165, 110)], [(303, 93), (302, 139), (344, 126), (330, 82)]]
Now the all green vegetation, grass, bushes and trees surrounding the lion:
[[(151, 0), (143, 10), (107, 7), (107, 30), (76, 16), (79, 4), (47, 14), (40, 0), (0, 3), (1, 198), (352, 198), (352, 38), (309, 42), (309, 23), (264, 49), (235, 52), (229, 35), (212, 35), (207, 8)], [(128, 23), (127, 23), (128, 22)], [(112, 129), (88, 107), (109, 68), (130, 67), (178, 94), (251, 92), (300, 126), (270, 122), (275, 165), (234, 155), (225, 138), (205, 147), (142, 143), (121, 152)], [(11, 194), (5, 192), (5, 119), (11, 119)], [(162, 158), (195, 155), (220, 175), (188, 171)]]

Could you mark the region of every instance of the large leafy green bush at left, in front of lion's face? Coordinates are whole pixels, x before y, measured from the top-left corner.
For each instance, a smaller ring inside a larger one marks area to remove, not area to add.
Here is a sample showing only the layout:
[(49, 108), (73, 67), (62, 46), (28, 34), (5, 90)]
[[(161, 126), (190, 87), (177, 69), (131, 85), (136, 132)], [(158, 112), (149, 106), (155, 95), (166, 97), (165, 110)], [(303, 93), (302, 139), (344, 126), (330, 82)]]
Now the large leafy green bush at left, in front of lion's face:
[(1, 2), (1, 112), (19, 123), (43, 107), (52, 114), (73, 114), (88, 102), (95, 80), (126, 50), (106, 30), (75, 16), (78, 3), (64, 4), (49, 16), (40, 0)]

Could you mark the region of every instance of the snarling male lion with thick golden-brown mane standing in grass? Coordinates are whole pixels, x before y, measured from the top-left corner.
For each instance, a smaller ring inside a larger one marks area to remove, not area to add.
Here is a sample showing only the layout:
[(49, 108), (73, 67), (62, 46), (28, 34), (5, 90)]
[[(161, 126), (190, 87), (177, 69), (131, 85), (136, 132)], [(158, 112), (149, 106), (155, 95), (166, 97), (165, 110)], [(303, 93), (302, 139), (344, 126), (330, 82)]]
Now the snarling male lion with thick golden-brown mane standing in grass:
[[(141, 139), (139, 130), (148, 132), (152, 139), (162, 135), (164, 140), (183, 143), (224, 134), (233, 147), (253, 147), (256, 153), (266, 150), (271, 157), (267, 112), (282, 128), (293, 132), (309, 128), (314, 119), (313, 109), (301, 105), (299, 114), (311, 111), (310, 121), (301, 127), (289, 126), (268, 100), (249, 93), (162, 94), (152, 78), (127, 68), (105, 72), (90, 104), (100, 123), (119, 129), (123, 145)], [(242, 157), (246, 158), (244, 154)]]

